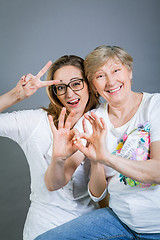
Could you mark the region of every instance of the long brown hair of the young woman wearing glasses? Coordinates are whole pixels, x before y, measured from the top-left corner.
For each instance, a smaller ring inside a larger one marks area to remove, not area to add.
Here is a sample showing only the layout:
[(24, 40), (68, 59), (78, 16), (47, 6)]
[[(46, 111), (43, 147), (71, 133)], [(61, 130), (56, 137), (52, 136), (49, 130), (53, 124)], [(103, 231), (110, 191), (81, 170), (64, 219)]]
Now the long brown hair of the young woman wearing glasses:
[[(88, 80), (84, 74), (84, 60), (81, 57), (78, 57), (75, 55), (64, 55), (64, 56), (60, 57), (49, 68), (46, 81), (54, 80), (55, 72), (64, 66), (77, 67), (81, 71), (82, 77), (88, 85), (89, 99), (88, 99), (88, 102), (87, 102), (84, 112), (87, 112), (87, 111), (95, 108), (99, 104), (99, 100), (98, 100), (98, 97), (95, 96), (93, 90), (90, 89)], [(43, 110), (47, 111), (48, 114), (52, 115), (53, 122), (54, 122), (55, 126), (57, 127), (58, 121), (59, 121), (59, 116), (60, 116), (61, 110), (64, 106), (60, 102), (60, 100), (57, 98), (57, 96), (54, 94), (54, 92), (52, 90), (52, 86), (47, 87), (46, 90), (47, 90), (47, 95), (50, 99), (50, 104), (49, 104), (48, 108), (43, 108)], [(67, 112), (66, 117), (68, 114), (69, 114), (69, 112)]]

